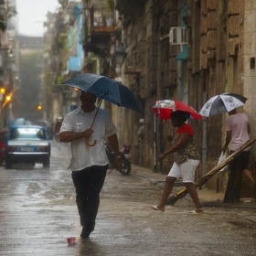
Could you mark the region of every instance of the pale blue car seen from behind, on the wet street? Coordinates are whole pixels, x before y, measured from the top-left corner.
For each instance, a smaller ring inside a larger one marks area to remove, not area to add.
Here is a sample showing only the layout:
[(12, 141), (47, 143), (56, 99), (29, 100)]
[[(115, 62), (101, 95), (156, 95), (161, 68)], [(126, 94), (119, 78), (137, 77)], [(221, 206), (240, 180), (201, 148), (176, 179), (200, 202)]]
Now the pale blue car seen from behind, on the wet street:
[(5, 144), (5, 168), (13, 164), (50, 165), (51, 145), (48, 141), (47, 129), (39, 125), (13, 125)]

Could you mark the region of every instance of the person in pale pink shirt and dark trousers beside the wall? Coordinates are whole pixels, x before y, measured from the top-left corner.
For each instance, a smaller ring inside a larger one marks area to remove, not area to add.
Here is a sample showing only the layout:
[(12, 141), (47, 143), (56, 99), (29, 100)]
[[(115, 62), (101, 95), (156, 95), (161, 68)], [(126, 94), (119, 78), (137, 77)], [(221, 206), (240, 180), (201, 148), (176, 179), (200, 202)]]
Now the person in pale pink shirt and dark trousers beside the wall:
[[(230, 154), (232, 154), (250, 139), (251, 127), (247, 115), (245, 113), (237, 112), (236, 109), (229, 112), (225, 126), (226, 140), (222, 147), (222, 151), (225, 153), (230, 144)], [(240, 202), (242, 174), (249, 178), (255, 189), (255, 180), (248, 168), (250, 149), (250, 146), (247, 147), (229, 164), (229, 181), (224, 196), (225, 203)]]

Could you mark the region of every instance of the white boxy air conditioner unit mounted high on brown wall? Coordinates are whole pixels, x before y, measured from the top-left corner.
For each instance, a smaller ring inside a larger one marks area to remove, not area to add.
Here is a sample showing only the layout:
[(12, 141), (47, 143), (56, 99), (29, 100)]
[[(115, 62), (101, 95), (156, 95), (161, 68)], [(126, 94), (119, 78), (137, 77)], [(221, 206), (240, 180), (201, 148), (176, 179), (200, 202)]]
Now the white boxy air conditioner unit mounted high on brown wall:
[(171, 27), (169, 31), (169, 43), (171, 45), (187, 45), (187, 27)]

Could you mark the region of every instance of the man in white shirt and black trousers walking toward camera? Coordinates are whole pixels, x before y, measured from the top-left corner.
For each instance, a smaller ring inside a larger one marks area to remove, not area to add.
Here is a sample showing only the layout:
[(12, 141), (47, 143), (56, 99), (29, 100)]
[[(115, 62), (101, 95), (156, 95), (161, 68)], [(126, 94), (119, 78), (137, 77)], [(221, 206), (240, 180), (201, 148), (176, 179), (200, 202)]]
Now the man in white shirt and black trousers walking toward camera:
[[(116, 135), (117, 129), (112, 123), (109, 112), (99, 109), (91, 128), (97, 107), (96, 96), (82, 91), (81, 106), (66, 114), (59, 131), (59, 141), (70, 143), (71, 160), (69, 168), (76, 188), (76, 203), (80, 214), (82, 230), (80, 237), (89, 238), (94, 230), (100, 205), (101, 188), (108, 169), (108, 158), (104, 141), (111, 144), (115, 160), (114, 167), (120, 169), (122, 156)], [(96, 142), (92, 146), (88, 141)]]

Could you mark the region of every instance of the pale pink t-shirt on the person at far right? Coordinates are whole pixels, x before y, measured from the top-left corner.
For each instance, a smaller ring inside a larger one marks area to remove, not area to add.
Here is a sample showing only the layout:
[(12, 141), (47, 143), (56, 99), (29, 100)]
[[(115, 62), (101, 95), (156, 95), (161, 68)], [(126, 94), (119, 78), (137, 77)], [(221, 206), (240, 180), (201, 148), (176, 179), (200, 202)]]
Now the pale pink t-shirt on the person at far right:
[[(245, 113), (231, 114), (226, 119), (226, 131), (231, 131), (230, 150), (237, 151), (249, 139), (248, 117)], [(250, 150), (250, 147), (244, 151)]]

